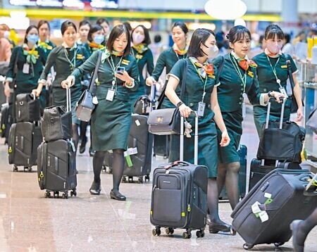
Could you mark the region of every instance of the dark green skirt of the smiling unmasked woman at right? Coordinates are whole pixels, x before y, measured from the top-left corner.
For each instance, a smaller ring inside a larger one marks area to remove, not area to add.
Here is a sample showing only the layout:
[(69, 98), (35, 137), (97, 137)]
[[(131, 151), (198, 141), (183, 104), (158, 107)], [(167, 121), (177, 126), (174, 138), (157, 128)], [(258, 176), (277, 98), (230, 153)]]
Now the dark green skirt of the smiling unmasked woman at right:
[[(240, 144), (242, 135), (242, 111), (223, 112), (223, 121), (227, 127), (230, 143), (228, 146), (222, 147), (218, 145), (218, 161), (219, 163), (239, 162), (240, 157), (237, 154), (237, 149)], [(221, 131), (217, 127), (218, 142), (221, 141)]]

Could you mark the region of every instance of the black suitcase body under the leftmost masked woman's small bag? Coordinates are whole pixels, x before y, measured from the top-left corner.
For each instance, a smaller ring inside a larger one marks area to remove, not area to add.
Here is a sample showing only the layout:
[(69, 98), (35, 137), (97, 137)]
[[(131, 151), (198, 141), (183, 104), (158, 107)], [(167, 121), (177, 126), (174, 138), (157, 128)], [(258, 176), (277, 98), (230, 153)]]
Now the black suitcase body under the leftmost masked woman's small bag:
[(18, 166), (31, 171), (37, 164), (37, 147), (41, 144), (41, 127), (34, 122), (13, 123), (8, 137), (8, 163), (13, 164), (13, 171)]

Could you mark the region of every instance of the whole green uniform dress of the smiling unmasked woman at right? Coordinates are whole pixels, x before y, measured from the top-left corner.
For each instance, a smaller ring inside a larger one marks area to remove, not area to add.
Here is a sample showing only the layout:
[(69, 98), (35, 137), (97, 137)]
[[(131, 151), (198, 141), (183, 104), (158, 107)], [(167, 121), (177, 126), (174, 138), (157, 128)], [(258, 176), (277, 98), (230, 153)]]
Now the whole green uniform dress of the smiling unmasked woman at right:
[[(222, 61), (223, 70), (219, 76), (221, 84), (217, 89), (217, 94), (223, 121), (230, 137), (230, 143), (225, 147), (218, 145), (218, 160), (219, 163), (232, 163), (240, 161), (237, 149), (242, 135), (242, 95), (246, 93), (251, 104), (259, 104), (261, 94), (259, 93), (255, 67), (249, 66), (247, 71), (243, 70), (231, 53), (213, 59), (213, 64), (219, 68)], [(240, 71), (243, 81), (237, 70)], [(221, 131), (218, 127), (217, 132), (218, 141), (220, 141)]]

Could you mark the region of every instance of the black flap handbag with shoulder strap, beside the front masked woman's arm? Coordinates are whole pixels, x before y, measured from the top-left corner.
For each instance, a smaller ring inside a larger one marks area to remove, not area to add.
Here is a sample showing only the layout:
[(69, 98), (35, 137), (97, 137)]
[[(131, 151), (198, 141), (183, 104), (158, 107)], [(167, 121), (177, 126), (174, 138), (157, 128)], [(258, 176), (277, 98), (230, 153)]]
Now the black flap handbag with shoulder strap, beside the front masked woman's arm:
[[(182, 88), (180, 91), (180, 99), (182, 100), (185, 93), (186, 75), (187, 75), (187, 61), (184, 64), (182, 71)], [(165, 98), (167, 84), (163, 87), (161, 95), (159, 96), (158, 109), (149, 113), (147, 123), (149, 125), (149, 132), (152, 134), (166, 135), (166, 134), (180, 134), (180, 111), (178, 108), (161, 108), (163, 99)]]

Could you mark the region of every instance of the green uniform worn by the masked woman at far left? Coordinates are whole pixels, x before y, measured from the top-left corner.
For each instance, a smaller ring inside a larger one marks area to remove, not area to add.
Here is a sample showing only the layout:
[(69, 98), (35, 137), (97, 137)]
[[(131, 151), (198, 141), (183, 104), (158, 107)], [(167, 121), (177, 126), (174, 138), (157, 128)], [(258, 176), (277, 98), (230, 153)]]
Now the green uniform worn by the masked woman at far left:
[[(42, 49), (37, 47), (35, 51), (37, 51), (37, 56), (33, 55), (32, 57), (36, 58), (36, 62), (30, 60), (30, 63), (27, 62), (27, 45), (23, 46), (15, 46), (12, 50), (10, 63), (8, 66), (8, 73), (6, 74), (6, 80), (9, 82), (13, 82), (14, 77), (14, 68), (15, 68), (15, 59), (18, 57), (17, 61), (17, 73), (15, 76), (15, 95), (23, 94), (23, 93), (31, 93), (33, 89), (37, 88), (37, 82), (39, 80), (39, 76), (43, 71), (43, 66), (46, 62), (46, 55)], [(23, 50), (24, 49), (24, 50)], [(24, 51), (24, 52), (23, 52)], [(28, 65), (28, 67), (25, 67)], [(24, 71), (23, 71), (24, 68)], [(28, 68), (28, 71), (26, 70)], [(24, 73), (23, 73), (24, 72)], [(41, 103), (41, 107), (45, 108), (45, 94), (41, 94), (39, 96), (39, 101)]]

